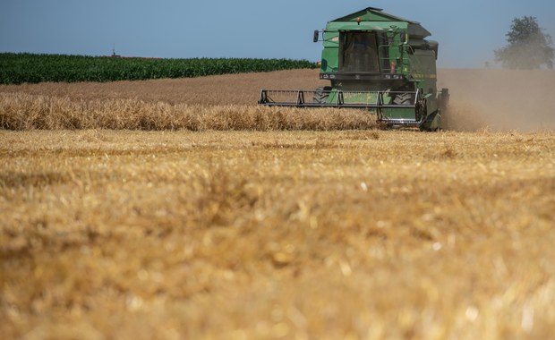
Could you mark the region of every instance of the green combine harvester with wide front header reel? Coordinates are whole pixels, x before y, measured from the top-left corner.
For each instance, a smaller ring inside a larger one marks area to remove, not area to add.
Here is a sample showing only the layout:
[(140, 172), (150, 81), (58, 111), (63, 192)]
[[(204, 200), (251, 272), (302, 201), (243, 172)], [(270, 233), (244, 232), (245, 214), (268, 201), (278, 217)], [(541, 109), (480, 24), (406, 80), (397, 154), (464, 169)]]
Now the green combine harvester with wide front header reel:
[(430, 35), (419, 22), (373, 7), (329, 21), (321, 31), (320, 79), (329, 80), (330, 86), (262, 89), (259, 104), (361, 108), (387, 128), (446, 128), (449, 93), (436, 89), (439, 44), (425, 39)]

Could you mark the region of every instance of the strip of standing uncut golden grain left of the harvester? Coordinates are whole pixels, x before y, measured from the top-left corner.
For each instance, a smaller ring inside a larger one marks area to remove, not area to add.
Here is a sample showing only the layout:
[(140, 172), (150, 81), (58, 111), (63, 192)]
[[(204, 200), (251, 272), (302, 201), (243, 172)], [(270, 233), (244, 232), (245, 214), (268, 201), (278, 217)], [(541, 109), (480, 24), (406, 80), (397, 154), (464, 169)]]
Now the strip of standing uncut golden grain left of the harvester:
[(376, 127), (359, 110), (200, 106), (135, 99), (73, 101), (0, 92), (0, 128), (7, 130), (350, 130)]

